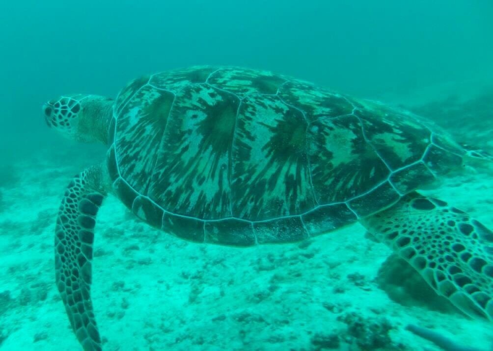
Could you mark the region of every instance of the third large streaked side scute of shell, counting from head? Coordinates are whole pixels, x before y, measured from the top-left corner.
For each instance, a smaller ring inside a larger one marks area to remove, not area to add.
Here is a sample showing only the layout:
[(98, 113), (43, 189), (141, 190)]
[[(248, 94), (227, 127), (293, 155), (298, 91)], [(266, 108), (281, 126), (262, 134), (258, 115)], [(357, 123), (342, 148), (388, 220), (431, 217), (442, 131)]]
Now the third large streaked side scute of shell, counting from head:
[(276, 96), (243, 100), (232, 155), (233, 216), (265, 220), (314, 207), (307, 126), (301, 111)]

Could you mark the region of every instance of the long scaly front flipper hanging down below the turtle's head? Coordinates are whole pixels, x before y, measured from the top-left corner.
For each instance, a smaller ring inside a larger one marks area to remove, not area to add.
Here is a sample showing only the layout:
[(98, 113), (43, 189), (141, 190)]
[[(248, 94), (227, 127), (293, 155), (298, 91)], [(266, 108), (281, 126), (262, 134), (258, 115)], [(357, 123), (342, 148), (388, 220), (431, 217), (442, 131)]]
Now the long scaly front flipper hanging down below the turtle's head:
[(90, 293), (94, 225), (106, 195), (101, 179), (100, 166), (73, 178), (56, 223), (56, 283), (72, 329), (86, 351), (102, 350)]

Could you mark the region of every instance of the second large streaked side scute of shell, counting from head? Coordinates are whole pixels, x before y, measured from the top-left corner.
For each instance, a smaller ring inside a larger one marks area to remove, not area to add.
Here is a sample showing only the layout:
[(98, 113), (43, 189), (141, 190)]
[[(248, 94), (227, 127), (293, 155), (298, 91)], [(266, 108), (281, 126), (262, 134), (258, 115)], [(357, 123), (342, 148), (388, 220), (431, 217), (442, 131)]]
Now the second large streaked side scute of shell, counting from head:
[(176, 95), (151, 176), (152, 200), (180, 215), (231, 216), (229, 162), (239, 105), (235, 95), (206, 84)]

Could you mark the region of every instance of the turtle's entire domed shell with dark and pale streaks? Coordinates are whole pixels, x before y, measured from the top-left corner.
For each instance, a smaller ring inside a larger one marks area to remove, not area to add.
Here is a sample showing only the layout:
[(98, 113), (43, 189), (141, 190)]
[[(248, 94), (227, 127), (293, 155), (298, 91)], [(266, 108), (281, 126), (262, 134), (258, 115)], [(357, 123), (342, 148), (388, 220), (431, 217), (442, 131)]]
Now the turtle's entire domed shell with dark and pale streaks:
[(411, 114), (238, 67), (135, 80), (111, 126), (110, 177), (134, 213), (235, 246), (353, 223), (458, 168), (463, 153)]

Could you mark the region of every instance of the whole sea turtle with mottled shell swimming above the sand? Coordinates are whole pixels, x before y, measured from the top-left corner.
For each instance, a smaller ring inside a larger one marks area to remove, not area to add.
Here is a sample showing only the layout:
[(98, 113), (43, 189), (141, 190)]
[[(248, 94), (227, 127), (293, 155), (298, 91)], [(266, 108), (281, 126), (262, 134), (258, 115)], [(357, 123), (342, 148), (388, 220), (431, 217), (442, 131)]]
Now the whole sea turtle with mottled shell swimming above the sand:
[(43, 111), (48, 126), (108, 148), (72, 179), (56, 222), (56, 284), (85, 350), (102, 349), (90, 285), (107, 194), (197, 243), (290, 243), (359, 221), (438, 294), (493, 320), (493, 232), (416, 191), (474, 156), (418, 116), (267, 71), (210, 66), (136, 79), (116, 100), (61, 96)]

